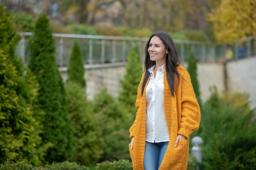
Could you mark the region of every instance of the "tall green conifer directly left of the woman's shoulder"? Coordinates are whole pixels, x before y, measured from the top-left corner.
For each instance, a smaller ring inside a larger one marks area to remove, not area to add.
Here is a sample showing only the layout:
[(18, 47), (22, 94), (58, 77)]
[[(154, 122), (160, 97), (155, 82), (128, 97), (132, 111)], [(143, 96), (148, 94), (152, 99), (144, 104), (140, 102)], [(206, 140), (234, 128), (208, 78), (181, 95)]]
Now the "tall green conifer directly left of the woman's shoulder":
[[(134, 115), (136, 113), (135, 100), (137, 98), (137, 88), (141, 80), (142, 64), (140, 60), (139, 48), (133, 47), (128, 54), (128, 62), (126, 65), (126, 75), (121, 80), (122, 91), (119, 94), (119, 102), (125, 106), (128, 113)], [(132, 119), (134, 118), (132, 117)]]

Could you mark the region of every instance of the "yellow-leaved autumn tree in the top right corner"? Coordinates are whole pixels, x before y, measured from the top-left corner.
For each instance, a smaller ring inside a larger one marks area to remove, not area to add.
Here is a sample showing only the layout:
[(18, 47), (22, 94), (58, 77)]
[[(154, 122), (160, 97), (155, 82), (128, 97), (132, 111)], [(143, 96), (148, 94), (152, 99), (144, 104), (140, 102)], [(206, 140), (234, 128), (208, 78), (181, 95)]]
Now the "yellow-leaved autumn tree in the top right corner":
[(255, 9), (255, 0), (222, 0), (209, 15), (217, 42), (231, 42), (256, 35)]

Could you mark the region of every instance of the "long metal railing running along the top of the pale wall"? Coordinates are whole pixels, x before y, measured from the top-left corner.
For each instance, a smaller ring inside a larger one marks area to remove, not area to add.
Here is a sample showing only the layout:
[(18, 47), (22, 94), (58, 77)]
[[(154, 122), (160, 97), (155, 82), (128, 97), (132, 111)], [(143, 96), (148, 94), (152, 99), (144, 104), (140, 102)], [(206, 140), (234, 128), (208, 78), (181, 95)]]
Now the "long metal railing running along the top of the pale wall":
[[(16, 49), (16, 55), (20, 56), (25, 64), (29, 62), (29, 36), (32, 33), (19, 33), (21, 40)], [(144, 61), (144, 49), (148, 38), (118, 37), (102, 35), (77, 35), (77, 34), (52, 34), (56, 46), (56, 62), (59, 67), (66, 67), (74, 40), (79, 43), (83, 64), (105, 64), (126, 62), (128, 53), (133, 46), (139, 46), (141, 62)], [(231, 48), (234, 59), (255, 56), (256, 36), (216, 45), (209, 42), (174, 40), (180, 62), (189, 58), (193, 51), (195, 58), (200, 62), (225, 61), (225, 53)], [(239, 51), (243, 47), (246, 51)]]

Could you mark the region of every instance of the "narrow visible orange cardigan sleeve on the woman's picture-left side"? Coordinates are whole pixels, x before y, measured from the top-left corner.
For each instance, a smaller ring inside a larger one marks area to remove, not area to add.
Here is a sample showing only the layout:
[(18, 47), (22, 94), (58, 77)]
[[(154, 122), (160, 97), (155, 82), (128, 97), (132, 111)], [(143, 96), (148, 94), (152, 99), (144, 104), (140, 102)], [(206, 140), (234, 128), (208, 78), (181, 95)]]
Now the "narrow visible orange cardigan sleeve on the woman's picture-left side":
[(137, 108), (137, 113), (136, 113), (135, 121), (134, 121), (133, 125), (129, 129), (129, 131), (130, 131), (130, 139), (132, 137), (134, 137), (134, 134), (135, 134), (135, 125), (137, 123), (137, 115), (138, 115), (139, 105), (140, 105), (141, 97), (142, 97), (141, 96), (141, 86), (142, 86), (144, 74), (145, 74), (145, 72), (143, 73), (143, 75), (141, 77), (141, 80), (139, 82), (139, 86), (137, 88), (137, 99), (136, 99), (136, 102), (135, 102), (135, 107)]

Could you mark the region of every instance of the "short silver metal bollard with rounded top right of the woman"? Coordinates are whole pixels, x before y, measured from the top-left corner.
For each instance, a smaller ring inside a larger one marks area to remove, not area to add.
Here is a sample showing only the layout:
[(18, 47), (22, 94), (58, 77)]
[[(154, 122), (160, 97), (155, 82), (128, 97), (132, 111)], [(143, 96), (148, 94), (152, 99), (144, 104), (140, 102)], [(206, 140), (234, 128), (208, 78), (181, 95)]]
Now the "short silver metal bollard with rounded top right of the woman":
[[(193, 145), (191, 154), (195, 156), (198, 163), (202, 163), (202, 148), (200, 145), (203, 143), (203, 139), (199, 136), (196, 136), (192, 138), (191, 143)], [(197, 164), (196, 170), (199, 170), (199, 164)]]

